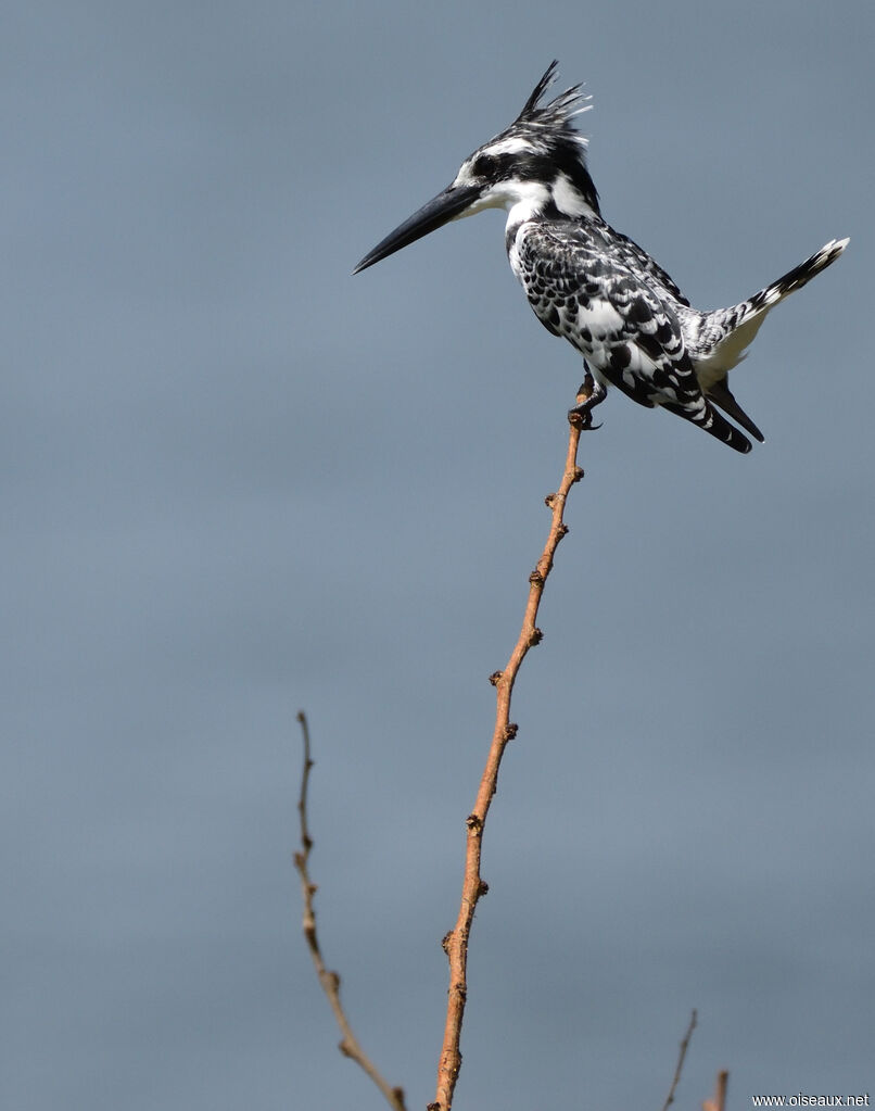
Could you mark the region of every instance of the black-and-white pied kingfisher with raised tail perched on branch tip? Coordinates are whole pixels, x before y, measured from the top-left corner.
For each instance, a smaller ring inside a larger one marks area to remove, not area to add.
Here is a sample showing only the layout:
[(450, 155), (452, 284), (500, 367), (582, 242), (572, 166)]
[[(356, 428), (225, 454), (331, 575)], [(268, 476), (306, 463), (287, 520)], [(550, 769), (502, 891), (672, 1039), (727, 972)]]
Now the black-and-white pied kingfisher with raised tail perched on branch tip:
[(727, 373), (766, 313), (834, 262), (848, 240), (831, 240), (783, 278), (730, 309), (693, 309), (677, 286), (637, 243), (602, 219), (586, 168), (586, 139), (573, 117), (586, 111), (581, 86), (542, 103), (554, 61), (514, 122), (466, 158), (453, 182), (395, 228), (359, 273), (450, 220), (486, 208), (507, 212), (505, 247), (537, 319), (584, 359), (589, 394), (572, 409), (584, 428), (591, 410), (615, 386), (638, 404), (661, 406), (736, 451), (763, 434), (741, 408)]

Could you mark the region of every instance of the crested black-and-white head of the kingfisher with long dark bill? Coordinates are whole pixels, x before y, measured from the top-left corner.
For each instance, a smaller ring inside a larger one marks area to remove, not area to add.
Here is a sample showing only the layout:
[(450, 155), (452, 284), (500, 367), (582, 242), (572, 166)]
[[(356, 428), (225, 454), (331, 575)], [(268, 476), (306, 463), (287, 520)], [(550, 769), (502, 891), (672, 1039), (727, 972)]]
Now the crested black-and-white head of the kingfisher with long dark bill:
[(487, 208), (505, 209), (511, 222), (534, 214), (574, 219), (599, 212), (599, 194), (586, 169), (586, 140), (572, 122), (592, 107), (586, 103), (589, 98), (575, 84), (549, 103), (541, 103), (557, 64), (550, 64), (513, 123), (466, 158), (446, 189), (390, 232), (353, 273), (451, 220)]

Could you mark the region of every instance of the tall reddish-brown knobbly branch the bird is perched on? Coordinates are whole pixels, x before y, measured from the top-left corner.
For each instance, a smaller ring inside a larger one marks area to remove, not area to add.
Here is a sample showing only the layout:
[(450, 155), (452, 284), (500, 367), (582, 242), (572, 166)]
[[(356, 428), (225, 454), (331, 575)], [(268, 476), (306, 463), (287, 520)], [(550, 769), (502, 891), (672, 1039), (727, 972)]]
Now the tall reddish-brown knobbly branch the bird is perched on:
[[(587, 382), (581, 387), (581, 393), (577, 397), (579, 403), (585, 401), (589, 397), (586, 392), (589, 384)], [(453, 1103), (453, 1091), (459, 1079), (459, 1071), (462, 1068), (462, 1053), (459, 1047), (467, 997), (467, 942), (477, 901), (487, 890), (480, 874), (483, 831), (486, 824), (490, 803), (495, 794), (499, 768), (504, 755), (504, 750), (507, 742), (516, 735), (516, 725), (511, 722), (511, 694), (513, 693), (513, 684), (529, 649), (533, 648), (541, 640), (542, 633), (535, 621), (537, 619), (541, 598), (544, 593), (544, 585), (553, 567), (553, 556), (560, 540), (569, 531), (563, 523), (565, 500), (572, 486), (583, 478), (583, 470), (577, 467), (580, 436), (581, 421), (580, 419), (572, 420), (562, 483), (556, 493), (550, 494), (546, 499), (547, 508), (553, 511), (553, 517), (550, 524), (550, 534), (541, 553), (541, 559), (539, 559), (535, 570), (529, 575), (529, 600), (525, 607), (522, 630), (511, 652), (507, 667), (504, 671), (496, 671), (490, 679), (496, 691), (495, 729), (492, 734), (492, 744), (490, 745), (486, 767), (480, 781), (474, 809), (466, 820), (465, 873), (462, 883), (462, 902), (459, 909), (459, 918), (455, 927), (443, 939), (444, 952), (450, 961), (450, 991), (443, 1047), (438, 1065), (438, 1089), (434, 1102), (429, 1104), (429, 1111), (450, 1111)]]

